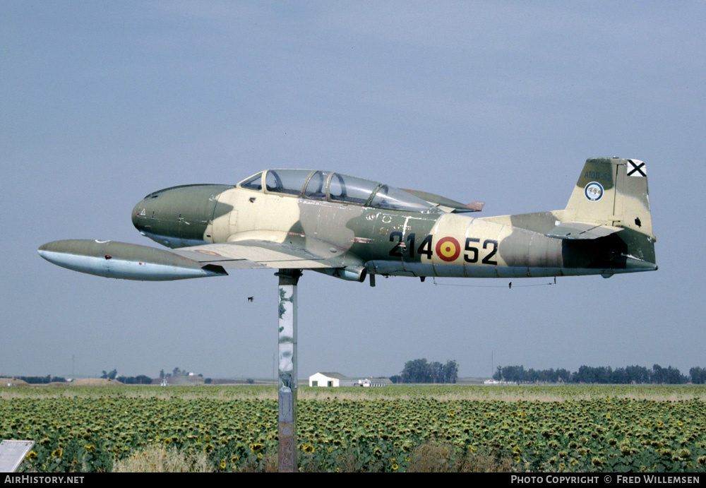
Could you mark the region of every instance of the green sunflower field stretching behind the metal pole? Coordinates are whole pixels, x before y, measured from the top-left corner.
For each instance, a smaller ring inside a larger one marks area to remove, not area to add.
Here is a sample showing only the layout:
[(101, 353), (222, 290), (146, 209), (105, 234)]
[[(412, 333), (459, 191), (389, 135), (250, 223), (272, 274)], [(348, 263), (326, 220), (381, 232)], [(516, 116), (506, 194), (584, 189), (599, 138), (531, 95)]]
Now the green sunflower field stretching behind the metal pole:
[[(276, 470), (274, 386), (0, 388), (20, 470), (112, 471), (152, 448)], [(704, 386), (299, 388), (307, 471), (706, 471)]]

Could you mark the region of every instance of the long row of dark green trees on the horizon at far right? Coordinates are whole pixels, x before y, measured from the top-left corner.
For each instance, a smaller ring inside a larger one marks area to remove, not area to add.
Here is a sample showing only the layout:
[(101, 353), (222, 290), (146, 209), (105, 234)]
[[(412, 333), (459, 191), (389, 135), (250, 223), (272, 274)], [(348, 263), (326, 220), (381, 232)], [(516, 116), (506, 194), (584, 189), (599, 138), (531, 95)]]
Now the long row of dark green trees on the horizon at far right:
[(654, 364), (652, 369), (644, 366), (611, 367), (582, 366), (573, 373), (566, 369), (525, 369), (523, 366), (498, 366), (493, 374), (497, 381), (508, 383), (657, 383), (678, 385), (683, 383), (706, 383), (706, 368), (694, 367), (689, 376), (673, 367), (663, 368)]

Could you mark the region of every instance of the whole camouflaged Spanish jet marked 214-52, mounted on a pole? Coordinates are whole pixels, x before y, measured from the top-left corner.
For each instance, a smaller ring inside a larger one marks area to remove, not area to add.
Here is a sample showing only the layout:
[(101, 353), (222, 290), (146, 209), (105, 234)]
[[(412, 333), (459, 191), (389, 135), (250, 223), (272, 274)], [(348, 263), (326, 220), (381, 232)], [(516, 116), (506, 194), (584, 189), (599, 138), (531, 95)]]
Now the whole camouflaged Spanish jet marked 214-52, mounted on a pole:
[(422, 191), (336, 172), (269, 169), (237, 185), (155, 191), (132, 212), (171, 248), (99, 240), (40, 246), (72, 270), (128, 280), (225, 275), (227, 269), (371, 276), (533, 278), (656, 270), (645, 163), (586, 161), (563, 210), (478, 218)]

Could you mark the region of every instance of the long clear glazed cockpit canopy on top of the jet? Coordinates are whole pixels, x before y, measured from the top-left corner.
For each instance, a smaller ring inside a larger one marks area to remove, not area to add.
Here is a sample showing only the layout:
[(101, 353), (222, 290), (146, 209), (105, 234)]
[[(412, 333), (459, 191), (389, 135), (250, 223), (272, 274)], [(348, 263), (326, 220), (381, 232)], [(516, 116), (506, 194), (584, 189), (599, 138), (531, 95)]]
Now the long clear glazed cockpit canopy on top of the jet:
[(329, 171), (268, 169), (238, 186), (265, 193), (285, 194), (312, 200), (352, 203), (392, 210), (433, 212), (429, 202), (393, 186)]

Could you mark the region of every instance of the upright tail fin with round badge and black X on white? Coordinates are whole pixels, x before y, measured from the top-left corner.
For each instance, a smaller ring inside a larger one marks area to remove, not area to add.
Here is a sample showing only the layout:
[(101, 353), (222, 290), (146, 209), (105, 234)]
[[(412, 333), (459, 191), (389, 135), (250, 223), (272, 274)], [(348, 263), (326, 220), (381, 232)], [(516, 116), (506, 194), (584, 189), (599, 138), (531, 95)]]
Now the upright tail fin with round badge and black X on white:
[(564, 220), (632, 229), (652, 237), (645, 163), (617, 157), (586, 160)]

